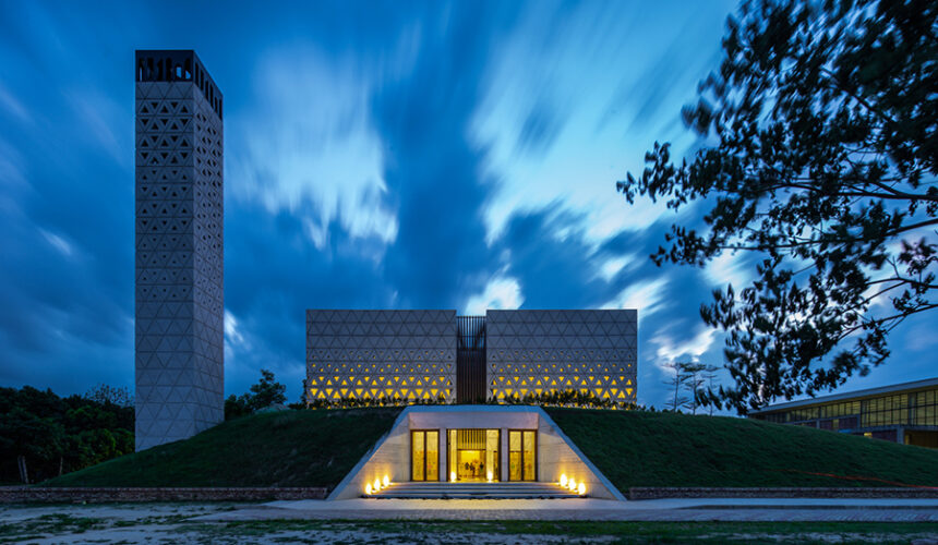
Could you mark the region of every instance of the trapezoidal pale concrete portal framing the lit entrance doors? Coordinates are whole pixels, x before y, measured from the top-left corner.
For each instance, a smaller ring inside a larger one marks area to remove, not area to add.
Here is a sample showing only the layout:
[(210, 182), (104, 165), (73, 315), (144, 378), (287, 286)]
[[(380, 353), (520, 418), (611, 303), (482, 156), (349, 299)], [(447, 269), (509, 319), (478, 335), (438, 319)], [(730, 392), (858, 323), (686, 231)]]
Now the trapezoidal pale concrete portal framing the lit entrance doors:
[(508, 429), (538, 431), (538, 481), (558, 482), (561, 474), (587, 483), (591, 497), (624, 499), (569, 438), (539, 407), (518, 405), (438, 405), (408, 407), (400, 413), (390, 431), (368, 452), (329, 495), (329, 499), (360, 497), (365, 484), (385, 475), (392, 482), (410, 481), (410, 431), (440, 432), (441, 481), (449, 474), (447, 468), (446, 431), (454, 428), (501, 429), (500, 448), (502, 481), (508, 481)]

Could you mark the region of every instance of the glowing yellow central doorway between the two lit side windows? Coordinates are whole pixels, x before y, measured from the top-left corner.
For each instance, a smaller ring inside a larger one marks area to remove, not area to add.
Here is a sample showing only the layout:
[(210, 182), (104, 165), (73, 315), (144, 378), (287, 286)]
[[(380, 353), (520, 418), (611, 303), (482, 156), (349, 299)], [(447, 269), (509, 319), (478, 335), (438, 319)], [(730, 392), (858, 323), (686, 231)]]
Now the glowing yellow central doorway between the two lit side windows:
[(449, 480), (500, 481), (498, 445), (501, 441), (500, 429), (448, 429), (446, 449)]

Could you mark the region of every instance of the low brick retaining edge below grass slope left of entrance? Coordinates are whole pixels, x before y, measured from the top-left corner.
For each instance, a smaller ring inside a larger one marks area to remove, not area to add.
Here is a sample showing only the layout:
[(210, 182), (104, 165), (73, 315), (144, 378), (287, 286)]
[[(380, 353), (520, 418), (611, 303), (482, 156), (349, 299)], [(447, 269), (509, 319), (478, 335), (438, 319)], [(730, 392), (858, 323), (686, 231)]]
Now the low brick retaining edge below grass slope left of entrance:
[(105, 504), (115, 501), (258, 501), (324, 499), (327, 488), (92, 488), (0, 487), (0, 504)]

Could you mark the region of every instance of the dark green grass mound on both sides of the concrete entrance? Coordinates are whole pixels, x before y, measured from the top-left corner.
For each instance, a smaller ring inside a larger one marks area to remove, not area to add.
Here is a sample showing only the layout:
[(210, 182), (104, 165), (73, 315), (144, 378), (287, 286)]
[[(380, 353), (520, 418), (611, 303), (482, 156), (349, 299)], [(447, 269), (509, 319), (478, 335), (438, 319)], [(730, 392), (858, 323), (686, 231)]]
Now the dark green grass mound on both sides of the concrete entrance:
[[(546, 410), (622, 492), (633, 486), (938, 486), (935, 449), (745, 419)], [(399, 412), (245, 416), (43, 484), (333, 488)]]

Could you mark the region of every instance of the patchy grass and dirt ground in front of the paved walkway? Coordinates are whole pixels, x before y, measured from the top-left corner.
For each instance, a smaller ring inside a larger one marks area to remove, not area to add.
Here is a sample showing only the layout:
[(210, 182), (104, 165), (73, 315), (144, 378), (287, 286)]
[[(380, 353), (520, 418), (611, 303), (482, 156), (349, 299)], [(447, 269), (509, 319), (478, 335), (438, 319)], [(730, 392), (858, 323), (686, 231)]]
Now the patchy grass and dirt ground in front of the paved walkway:
[[(394, 500), (371, 500), (389, 502)], [(565, 500), (560, 500), (565, 501)], [(340, 504), (340, 502), (330, 502)], [(321, 502), (320, 505), (325, 505)], [(373, 504), (374, 505), (374, 504)], [(296, 507), (296, 506), (294, 506)], [(424, 506), (425, 507), (425, 506)], [(517, 506), (515, 506), (517, 507)], [(245, 518), (275, 505), (135, 504), (0, 507), (0, 542), (28, 543), (938, 543), (938, 522), (316, 520)], [(359, 509), (360, 510), (360, 509)], [(503, 509), (496, 509), (503, 511)], [(589, 510), (589, 509), (587, 509)], [(636, 512), (654, 512), (648, 505)], [(742, 509), (736, 509), (741, 511)], [(759, 511), (765, 511), (760, 509)], [(912, 509), (931, 513), (934, 509)], [(779, 511), (784, 511), (783, 509)], [(871, 510), (877, 511), (877, 510)], [(895, 511), (879, 509), (878, 511)], [(334, 511), (335, 512), (335, 511)], [(436, 511), (438, 512), (438, 510)], [(720, 510), (714, 510), (720, 518)], [(234, 520), (236, 514), (241, 520)], [(273, 514), (273, 513), (270, 513)], [(919, 513), (919, 519), (922, 513)], [(841, 518), (843, 516), (841, 514)], [(226, 520), (230, 519), (230, 520)]]

